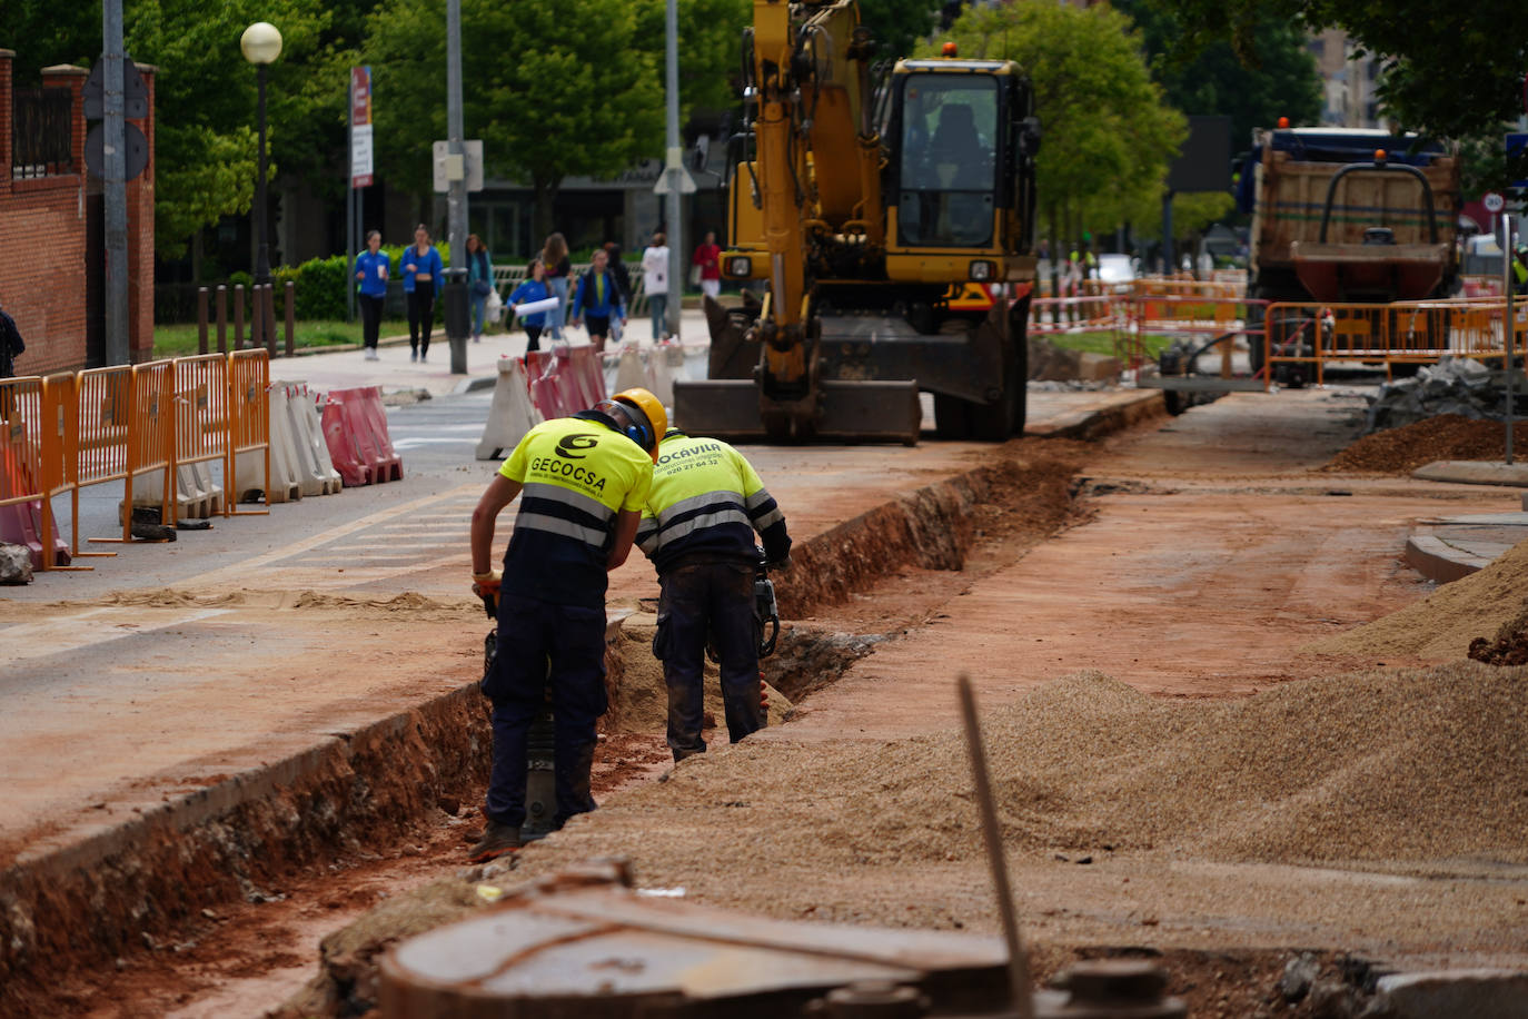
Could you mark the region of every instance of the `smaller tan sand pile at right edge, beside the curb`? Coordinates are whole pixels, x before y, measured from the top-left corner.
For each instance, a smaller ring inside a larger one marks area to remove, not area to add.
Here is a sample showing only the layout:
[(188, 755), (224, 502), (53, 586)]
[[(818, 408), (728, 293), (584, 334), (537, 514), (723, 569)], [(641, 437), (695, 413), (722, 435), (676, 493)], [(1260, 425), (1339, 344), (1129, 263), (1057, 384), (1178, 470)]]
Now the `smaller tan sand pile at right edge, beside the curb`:
[(1415, 605), (1357, 629), (1305, 645), (1314, 654), (1462, 658), (1476, 637), (1497, 632), (1528, 608), (1528, 541), (1479, 573), (1445, 584)]

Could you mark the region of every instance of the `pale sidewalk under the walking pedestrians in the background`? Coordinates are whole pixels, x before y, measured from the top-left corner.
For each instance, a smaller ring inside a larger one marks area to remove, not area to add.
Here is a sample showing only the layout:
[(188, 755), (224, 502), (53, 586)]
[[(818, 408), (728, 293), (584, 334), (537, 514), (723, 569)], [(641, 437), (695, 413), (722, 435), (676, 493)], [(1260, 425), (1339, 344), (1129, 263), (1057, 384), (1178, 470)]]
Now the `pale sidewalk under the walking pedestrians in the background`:
[[(384, 328), (396, 328), (399, 322), (384, 322), (382, 325)], [(570, 344), (588, 342), (588, 333), (584, 328), (564, 327), (562, 332)], [(643, 347), (652, 344), (646, 318), (628, 319), (622, 344), (631, 339)], [(706, 316), (700, 309), (685, 309), (681, 313), (680, 339), (686, 345), (711, 342)], [(542, 333), (541, 348), (547, 350), (547, 347), (549, 341)], [(605, 350), (611, 353), (619, 350), (619, 345), (607, 344)], [(384, 393), (426, 390), (431, 396), (492, 388), (498, 377), (498, 359), (520, 357), (526, 353), (526, 333), (498, 332), (484, 335), (483, 342), (478, 344), (468, 341), (466, 374), (451, 374), (451, 342), (443, 328), (437, 328), (431, 335), (429, 361), (423, 364), (408, 359), (406, 332), (384, 336), (377, 353), (377, 361), (367, 361), (359, 347), (298, 357), (277, 357), (270, 362), (270, 379), (274, 382), (306, 382), (315, 390), (374, 385), (380, 387)]]

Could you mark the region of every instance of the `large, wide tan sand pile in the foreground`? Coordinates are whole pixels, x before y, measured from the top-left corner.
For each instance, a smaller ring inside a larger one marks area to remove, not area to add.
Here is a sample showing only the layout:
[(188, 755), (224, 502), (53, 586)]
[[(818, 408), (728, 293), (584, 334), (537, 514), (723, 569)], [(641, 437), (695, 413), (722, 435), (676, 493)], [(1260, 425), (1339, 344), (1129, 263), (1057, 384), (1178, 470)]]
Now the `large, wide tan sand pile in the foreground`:
[[(1163, 701), (1099, 674), (1056, 680), (984, 718), (1004, 837), (1045, 854), (1528, 863), (1525, 674), (1461, 662), (1241, 701)], [(597, 828), (564, 837), (578, 857), (633, 854), (649, 882), (718, 888), (736, 878), (718, 860), (848, 874), (983, 852), (957, 733), (744, 742), (613, 797)], [(523, 869), (541, 862), (527, 854)]]

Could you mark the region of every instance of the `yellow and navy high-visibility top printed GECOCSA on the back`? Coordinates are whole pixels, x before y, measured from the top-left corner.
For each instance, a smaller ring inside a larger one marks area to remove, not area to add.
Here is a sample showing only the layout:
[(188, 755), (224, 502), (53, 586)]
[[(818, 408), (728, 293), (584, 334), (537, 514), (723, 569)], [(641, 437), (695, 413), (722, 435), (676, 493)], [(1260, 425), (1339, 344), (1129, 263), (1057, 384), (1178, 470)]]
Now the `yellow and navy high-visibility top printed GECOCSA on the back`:
[(524, 486), (503, 590), (604, 608), (616, 515), (646, 504), (648, 454), (585, 411), (532, 428), (498, 472)]

